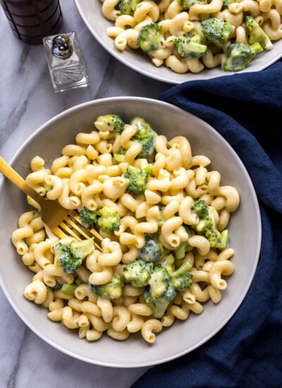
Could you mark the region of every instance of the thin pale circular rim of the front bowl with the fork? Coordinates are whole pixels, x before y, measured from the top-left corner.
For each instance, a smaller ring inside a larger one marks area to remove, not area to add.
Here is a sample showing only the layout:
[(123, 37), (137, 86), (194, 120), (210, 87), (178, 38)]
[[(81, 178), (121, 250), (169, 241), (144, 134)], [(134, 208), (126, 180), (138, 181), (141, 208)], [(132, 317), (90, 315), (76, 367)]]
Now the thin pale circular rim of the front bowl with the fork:
[[(13, 166), (13, 163), (18, 158), (18, 156), (20, 155), (22, 150), (25, 148), (25, 146), (28, 143), (30, 143), (30, 141), (33, 138), (37, 137), (42, 131), (44, 131), (47, 126), (49, 126), (50, 124), (56, 122), (57, 119), (61, 119), (61, 118), (63, 118), (63, 116), (68, 116), (68, 114), (70, 114), (71, 112), (73, 113), (75, 111), (79, 111), (80, 109), (83, 109), (83, 107), (87, 107), (88, 105), (104, 104), (104, 103), (107, 103), (107, 102), (114, 102), (114, 101), (124, 101), (124, 102), (129, 102), (129, 101), (130, 102), (140, 102), (140, 101), (143, 101), (143, 102), (150, 102), (151, 104), (152, 104), (152, 102), (154, 102), (154, 104), (159, 104), (159, 106), (161, 106), (161, 107), (166, 107), (168, 109), (174, 109), (175, 111), (182, 111), (182, 112), (185, 111), (183, 109), (180, 109), (179, 107), (176, 107), (173, 104), (168, 104), (167, 102), (162, 102), (162, 101), (159, 101), (157, 99), (151, 99), (151, 98), (146, 98), (146, 97), (106, 97), (106, 98), (102, 98), (102, 99), (95, 99), (95, 100), (92, 100), (92, 101), (89, 101), (89, 102), (83, 102), (82, 104), (77, 104), (74, 107), (66, 109), (65, 111), (61, 112), (60, 114), (57, 114), (53, 118), (51, 118), (48, 121), (46, 121), (42, 126), (37, 128), (37, 130), (34, 133), (32, 133), (32, 135), (30, 135), (29, 138), (27, 138), (25, 140), (23, 145), (20, 146), (20, 148), (17, 150), (16, 154), (13, 155), (13, 157), (9, 161), (9, 164), (11, 164), (11, 166)], [(105, 362), (100, 362), (100, 361), (96, 361), (96, 360), (94, 361), (94, 360), (92, 360), (90, 358), (87, 358), (87, 356), (85, 356), (85, 357), (84, 356), (79, 356), (79, 355), (73, 353), (72, 351), (68, 351), (66, 348), (63, 348), (62, 346), (56, 344), (56, 342), (46, 338), (44, 336), (43, 332), (39, 332), (39, 330), (37, 330), (34, 327), (34, 325), (32, 324), (32, 321), (29, 321), (28, 319), (25, 319), (25, 317), (22, 315), (20, 310), (17, 308), (16, 304), (13, 303), (13, 298), (12, 298), (12, 296), (10, 296), (10, 294), (8, 293), (7, 289), (4, 286), (4, 281), (2, 280), (1, 272), (0, 272), (0, 286), (1, 286), (1, 289), (4, 291), (4, 294), (5, 294), (6, 298), (8, 299), (8, 302), (11, 304), (13, 310), (17, 313), (17, 315), (20, 317), (20, 319), (23, 320), (23, 322), (25, 322), (25, 325), (27, 325), (27, 327), (29, 327), (32, 330), (32, 332), (34, 332), (35, 334), (37, 334), (38, 337), (43, 339), (43, 341), (47, 342), (47, 344), (53, 346), (57, 350), (62, 351), (63, 353), (67, 354), (68, 356), (71, 356), (71, 357), (76, 358), (78, 360), (85, 361), (87, 363), (92, 363), (94, 365), (106, 366), (106, 367), (111, 367), (111, 368), (144, 368), (144, 367), (147, 367), (147, 366), (159, 365), (161, 363), (166, 363), (166, 362), (168, 362), (170, 360), (174, 360), (176, 358), (184, 356), (187, 353), (190, 353), (191, 351), (194, 351), (196, 348), (202, 346), (202, 344), (204, 344), (209, 339), (214, 337), (214, 335), (217, 332), (219, 332), (219, 330), (221, 330), (226, 325), (226, 323), (229, 320), (231, 320), (231, 317), (233, 317), (233, 315), (236, 313), (236, 311), (240, 307), (241, 303), (243, 303), (243, 300), (244, 300), (245, 296), (247, 295), (247, 292), (250, 289), (250, 286), (252, 284), (252, 280), (254, 279), (255, 272), (257, 270), (257, 265), (258, 265), (258, 262), (259, 262), (259, 254), (260, 254), (261, 244), (262, 244), (262, 217), (261, 217), (260, 210), (259, 210), (259, 202), (257, 200), (257, 194), (255, 193), (255, 188), (254, 188), (254, 186), (252, 184), (252, 180), (250, 178), (250, 175), (248, 174), (247, 169), (245, 168), (245, 165), (243, 164), (243, 162), (241, 161), (240, 157), (235, 152), (235, 150), (233, 150), (233, 147), (231, 147), (231, 145), (227, 142), (227, 140), (225, 138), (223, 138), (223, 136), (219, 132), (217, 132), (212, 126), (210, 126), (209, 123), (207, 123), (206, 121), (200, 119), (199, 117), (195, 116), (194, 114), (191, 114), (188, 111), (185, 111), (185, 113), (188, 113), (191, 116), (195, 117), (197, 120), (202, 121), (204, 123), (204, 125), (208, 126), (209, 130), (212, 131), (212, 133), (214, 133), (215, 137), (221, 138), (221, 140), (223, 140), (223, 142), (226, 144), (226, 147), (228, 147), (229, 152), (233, 153), (233, 156), (235, 157), (235, 159), (238, 160), (238, 163), (240, 164), (241, 169), (243, 169), (243, 171), (245, 173), (245, 176), (247, 178), (247, 181), (248, 181), (248, 183), (250, 185), (250, 190), (252, 192), (252, 200), (254, 201), (255, 210), (256, 210), (259, 222), (258, 222), (258, 225), (257, 225), (257, 227), (258, 227), (257, 245), (256, 245), (256, 251), (255, 251), (255, 254), (254, 254), (254, 258), (255, 258), (254, 259), (254, 263), (255, 263), (255, 265), (253, 266), (252, 272), (250, 272), (250, 277), (249, 277), (247, 283), (245, 284), (245, 289), (244, 289), (243, 293), (241, 294), (240, 298), (238, 299), (238, 302), (233, 306), (233, 309), (231, 310), (231, 313), (229, 313), (221, 321), (220, 325), (218, 327), (216, 327), (216, 329), (214, 329), (209, 335), (204, 337), (204, 339), (202, 339), (202, 341), (198, 342), (197, 344), (195, 344), (194, 346), (189, 348), (187, 351), (182, 351), (182, 352), (177, 353), (177, 354), (175, 354), (173, 356), (168, 356), (168, 357), (165, 357), (165, 358), (161, 358), (157, 362), (156, 361), (152, 361), (152, 362), (149, 362), (149, 363), (144, 362), (142, 364), (140, 364), (140, 363), (134, 364), (133, 363), (132, 365), (123, 365), (121, 363), (105, 363)], [(5, 181), (4, 176), (1, 176), (0, 177), (0, 193), (1, 193), (1, 190), (3, 190), (4, 181)]]

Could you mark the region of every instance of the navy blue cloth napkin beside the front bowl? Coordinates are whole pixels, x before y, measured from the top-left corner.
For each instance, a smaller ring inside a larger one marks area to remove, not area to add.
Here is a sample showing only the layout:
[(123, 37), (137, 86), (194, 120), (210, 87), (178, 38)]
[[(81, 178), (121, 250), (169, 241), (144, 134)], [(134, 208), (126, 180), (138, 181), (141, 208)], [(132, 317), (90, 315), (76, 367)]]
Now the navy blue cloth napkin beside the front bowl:
[(259, 198), (262, 250), (228, 324), (133, 387), (282, 387), (282, 61), (266, 71), (183, 83), (160, 99), (207, 121), (238, 153)]

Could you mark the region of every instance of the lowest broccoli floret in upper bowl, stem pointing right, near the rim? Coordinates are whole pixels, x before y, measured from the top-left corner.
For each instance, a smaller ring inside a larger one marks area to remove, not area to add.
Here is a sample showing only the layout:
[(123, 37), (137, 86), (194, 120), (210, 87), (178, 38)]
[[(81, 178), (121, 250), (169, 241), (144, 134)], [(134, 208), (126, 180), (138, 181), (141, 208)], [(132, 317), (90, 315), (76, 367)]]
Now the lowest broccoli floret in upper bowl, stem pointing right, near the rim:
[(255, 58), (258, 52), (261, 52), (262, 47), (259, 43), (247, 46), (245, 43), (233, 43), (228, 46), (227, 58), (223, 63), (224, 71), (241, 71), (247, 66), (252, 59)]

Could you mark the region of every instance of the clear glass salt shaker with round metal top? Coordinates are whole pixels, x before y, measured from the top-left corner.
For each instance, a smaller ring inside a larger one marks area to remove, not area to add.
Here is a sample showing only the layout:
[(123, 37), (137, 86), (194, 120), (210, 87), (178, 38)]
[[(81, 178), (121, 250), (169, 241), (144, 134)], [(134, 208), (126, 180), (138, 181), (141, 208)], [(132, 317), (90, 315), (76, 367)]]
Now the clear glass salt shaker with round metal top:
[(76, 33), (51, 35), (43, 39), (55, 92), (89, 85)]

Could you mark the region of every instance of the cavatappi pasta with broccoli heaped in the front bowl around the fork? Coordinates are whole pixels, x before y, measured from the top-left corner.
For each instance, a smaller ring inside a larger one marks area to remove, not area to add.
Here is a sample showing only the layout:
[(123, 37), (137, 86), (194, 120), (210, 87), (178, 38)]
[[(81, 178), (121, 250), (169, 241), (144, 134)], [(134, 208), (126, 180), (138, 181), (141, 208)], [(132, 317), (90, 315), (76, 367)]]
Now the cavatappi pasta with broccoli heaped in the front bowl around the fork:
[(79, 255), (81, 243), (59, 240), (39, 210), (25, 212), (12, 234), (34, 272), (24, 295), (47, 308), (50, 320), (78, 329), (80, 339), (140, 332), (152, 343), (174, 320), (202, 313), (209, 299), (221, 301), (233, 273), (226, 226), (240, 198), (183, 136), (168, 140), (140, 118), (124, 124), (106, 115), (94, 124), (96, 131), (78, 133), (49, 168), (32, 159), (26, 179), (78, 210), (84, 226), (103, 236), (102, 249), (86, 240)]

